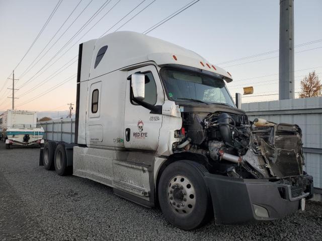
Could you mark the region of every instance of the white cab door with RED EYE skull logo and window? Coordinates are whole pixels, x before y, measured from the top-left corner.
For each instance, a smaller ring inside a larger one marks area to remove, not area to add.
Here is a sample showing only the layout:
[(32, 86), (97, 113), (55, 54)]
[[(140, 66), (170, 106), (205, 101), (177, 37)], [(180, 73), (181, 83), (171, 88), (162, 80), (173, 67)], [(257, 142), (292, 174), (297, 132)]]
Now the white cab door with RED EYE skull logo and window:
[[(128, 71), (127, 76), (140, 72), (145, 74), (144, 102), (152, 105), (164, 103), (164, 90), (154, 65)], [(133, 101), (131, 79), (126, 81), (124, 146), (140, 150), (157, 150), (162, 114), (150, 113), (151, 110)]]

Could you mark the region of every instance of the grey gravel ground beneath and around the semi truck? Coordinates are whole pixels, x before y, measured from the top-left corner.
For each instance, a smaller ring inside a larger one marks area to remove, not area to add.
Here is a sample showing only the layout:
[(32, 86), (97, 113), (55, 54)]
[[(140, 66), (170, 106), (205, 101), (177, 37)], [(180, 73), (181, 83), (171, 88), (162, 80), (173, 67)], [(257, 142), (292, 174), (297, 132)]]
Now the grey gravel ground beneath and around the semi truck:
[(0, 240), (321, 240), (322, 204), (272, 222), (193, 231), (167, 223), (112, 188), (38, 166), (38, 148), (0, 143)]

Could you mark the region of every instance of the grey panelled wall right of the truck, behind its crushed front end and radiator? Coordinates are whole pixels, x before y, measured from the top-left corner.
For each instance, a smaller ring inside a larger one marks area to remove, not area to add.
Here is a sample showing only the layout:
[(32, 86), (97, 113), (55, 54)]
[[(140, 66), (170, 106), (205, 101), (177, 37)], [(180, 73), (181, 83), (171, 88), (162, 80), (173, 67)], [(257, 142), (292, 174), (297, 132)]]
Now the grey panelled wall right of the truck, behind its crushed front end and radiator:
[(322, 97), (244, 103), (241, 108), (251, 121), (259, 117), (302, 129), (305, 170), (313, 176), (315, 191), (322, 193)]

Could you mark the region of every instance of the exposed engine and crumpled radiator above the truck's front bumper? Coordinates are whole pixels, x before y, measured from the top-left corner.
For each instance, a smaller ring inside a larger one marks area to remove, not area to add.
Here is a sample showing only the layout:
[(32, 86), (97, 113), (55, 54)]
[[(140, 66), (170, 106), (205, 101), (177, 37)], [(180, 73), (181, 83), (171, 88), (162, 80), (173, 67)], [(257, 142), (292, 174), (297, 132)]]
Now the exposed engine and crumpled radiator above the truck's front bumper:
[(183, 112), (174, 152), (203, 155), (212, 173), (236, 178), (281, 179), (303, 175), (297, 125), (225, 112)]

